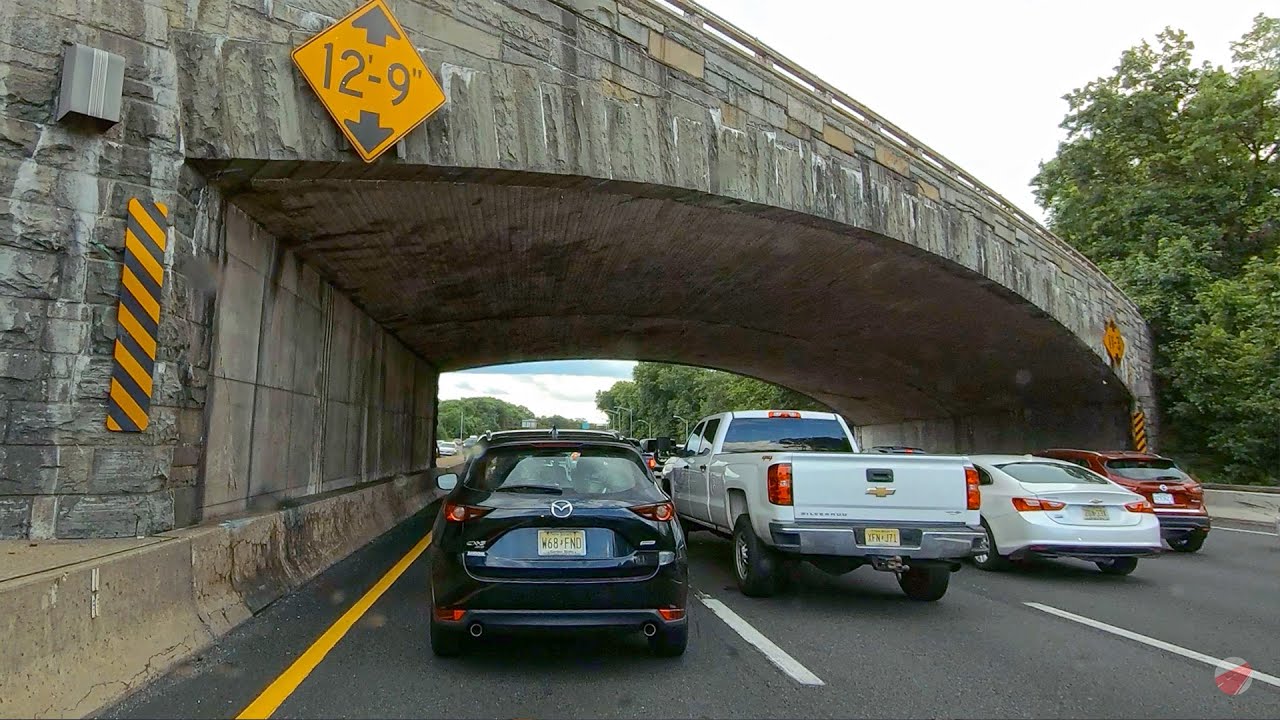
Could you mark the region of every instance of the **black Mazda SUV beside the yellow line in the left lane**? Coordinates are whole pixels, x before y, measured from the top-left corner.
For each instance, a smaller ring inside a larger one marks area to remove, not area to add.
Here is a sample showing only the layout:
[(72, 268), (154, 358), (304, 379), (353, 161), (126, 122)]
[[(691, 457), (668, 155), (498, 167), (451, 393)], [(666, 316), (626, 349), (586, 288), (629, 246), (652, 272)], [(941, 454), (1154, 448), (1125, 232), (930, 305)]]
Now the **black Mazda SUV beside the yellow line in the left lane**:
[(593, 430), (492, 433), (431, 530), (431, 651), (522, 628), (637, 630), (685, 652), (689, 561), (667, 496), (636, 447)]

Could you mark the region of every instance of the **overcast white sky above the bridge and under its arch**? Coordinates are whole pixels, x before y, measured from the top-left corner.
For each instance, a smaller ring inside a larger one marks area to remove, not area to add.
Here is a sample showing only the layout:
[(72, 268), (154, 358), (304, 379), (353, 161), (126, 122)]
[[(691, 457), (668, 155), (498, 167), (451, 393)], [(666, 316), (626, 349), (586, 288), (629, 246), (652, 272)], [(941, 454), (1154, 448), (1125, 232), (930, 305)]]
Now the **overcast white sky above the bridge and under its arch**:
[[(1029, 181), (1062, 138), (1062, 95), (1111, 72), (1166, 26), (1198, 60), (1277, 0), (700, 0), (792, 61), (893, 122), (1036, 218)], [(492, 395), (539, 415), (603, 421), (595, 391), (632, 363), (506, 365), (440, 377), (440, 398)]]

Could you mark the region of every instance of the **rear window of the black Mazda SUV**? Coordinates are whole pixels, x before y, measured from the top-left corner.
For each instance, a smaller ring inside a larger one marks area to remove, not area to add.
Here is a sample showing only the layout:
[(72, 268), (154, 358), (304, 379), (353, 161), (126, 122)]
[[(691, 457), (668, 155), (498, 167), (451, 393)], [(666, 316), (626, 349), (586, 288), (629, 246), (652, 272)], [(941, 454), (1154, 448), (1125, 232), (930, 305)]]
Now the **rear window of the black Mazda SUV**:
[(476, 459), (463, 484), (483, 492), (664, 500), (635, 451), (608, 446), (497, 447)]

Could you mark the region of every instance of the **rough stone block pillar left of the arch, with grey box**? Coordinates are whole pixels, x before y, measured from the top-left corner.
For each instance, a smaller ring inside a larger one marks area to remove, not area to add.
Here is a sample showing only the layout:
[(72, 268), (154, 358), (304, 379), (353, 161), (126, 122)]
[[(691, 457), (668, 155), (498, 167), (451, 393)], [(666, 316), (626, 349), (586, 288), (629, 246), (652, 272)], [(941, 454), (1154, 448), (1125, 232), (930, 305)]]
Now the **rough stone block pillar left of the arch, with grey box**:
[[(209, 296), (183, 188), (169, 23), (145, 3), (0, 3), (0, 537), (166, 530), (193, 519)], [(122, 120), (54, 123), (61, 51), (125, 58)], [(177, 218), (165, 261), (151, 425), (105, 427), (125, 204)]]

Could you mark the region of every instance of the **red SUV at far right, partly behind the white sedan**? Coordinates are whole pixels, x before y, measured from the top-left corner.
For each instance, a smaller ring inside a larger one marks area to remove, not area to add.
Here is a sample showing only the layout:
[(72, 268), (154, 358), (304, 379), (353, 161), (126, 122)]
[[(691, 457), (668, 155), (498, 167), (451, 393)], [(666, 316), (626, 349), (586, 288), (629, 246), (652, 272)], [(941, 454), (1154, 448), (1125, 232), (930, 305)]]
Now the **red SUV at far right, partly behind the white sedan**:
[(1041, 450), (1041, 457), (1056, 457), (1088, 468), (1124, 486), (1156, 506), (1160, 536), (1178, 552), (1196, 552), (1208, 537), (1204, 488), (1167, 457), (1128, 450)]

